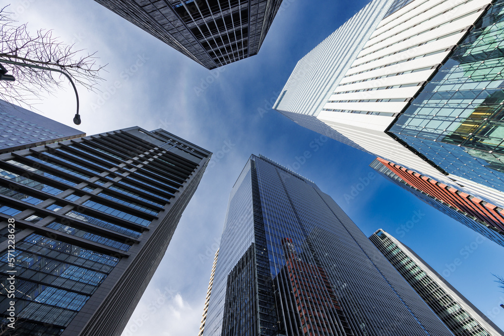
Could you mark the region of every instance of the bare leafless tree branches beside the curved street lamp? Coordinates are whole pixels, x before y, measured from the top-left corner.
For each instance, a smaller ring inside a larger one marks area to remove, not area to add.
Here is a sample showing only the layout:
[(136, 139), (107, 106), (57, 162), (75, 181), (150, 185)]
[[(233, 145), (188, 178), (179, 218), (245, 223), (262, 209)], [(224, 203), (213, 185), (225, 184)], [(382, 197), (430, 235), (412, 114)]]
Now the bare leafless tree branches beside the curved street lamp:
[(68, 85), (68, 79), (56, 72), (12, 65), (5, 60), (59, 70), (88, 90), (95, 89), (102, 80), (99, 72), (103, 69), (96, 63), (95, 53), (75, 50), (74, 44), (67, 45), (53, 37), (51, 30), (40, 29), (32, 35), (27, 25), (18, 25), (11, 14), (7, 7), (0, 9), (0, 64), (4, 60), (3, 65), (16, 81), (0, 81), (0, 98), (32, 106), (62, 84)]

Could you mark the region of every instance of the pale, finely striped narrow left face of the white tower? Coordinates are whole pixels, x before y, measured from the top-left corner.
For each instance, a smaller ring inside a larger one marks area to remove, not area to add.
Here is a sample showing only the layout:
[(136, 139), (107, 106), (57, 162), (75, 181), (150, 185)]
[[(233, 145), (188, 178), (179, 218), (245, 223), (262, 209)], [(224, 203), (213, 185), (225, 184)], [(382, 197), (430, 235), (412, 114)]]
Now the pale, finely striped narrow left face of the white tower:
[(274, 109), (309, 128), (306, 124), (310, 118), (300, 122), (295, 119), (295, 114), (311, 115), (311, 119), (317, 120), (315, 116), (320, 114), (334, 88), (348, 71), (352, 59), (365, 45), (391, 3), (391, 0), (371, 1), (301, 58), (275, 102)]

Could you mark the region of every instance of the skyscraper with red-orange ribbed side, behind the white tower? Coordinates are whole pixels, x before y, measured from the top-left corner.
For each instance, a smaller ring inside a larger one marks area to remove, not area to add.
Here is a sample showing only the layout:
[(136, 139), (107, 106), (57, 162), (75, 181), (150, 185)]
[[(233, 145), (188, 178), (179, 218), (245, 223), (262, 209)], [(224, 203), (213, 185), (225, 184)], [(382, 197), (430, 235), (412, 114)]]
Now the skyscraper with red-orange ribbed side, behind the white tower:
[[(370, 166), (433, 208), (504, 246), (501, 208), (383, 159), (375, 159)], [(404, 235), (404, 229), (398, 228), (396, 234)]]

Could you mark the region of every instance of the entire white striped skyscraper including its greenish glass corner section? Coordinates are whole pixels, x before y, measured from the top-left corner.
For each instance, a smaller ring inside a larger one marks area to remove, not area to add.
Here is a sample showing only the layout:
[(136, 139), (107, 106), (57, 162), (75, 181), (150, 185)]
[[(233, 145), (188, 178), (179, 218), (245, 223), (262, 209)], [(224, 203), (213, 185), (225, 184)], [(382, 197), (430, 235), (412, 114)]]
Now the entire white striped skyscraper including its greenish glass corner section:
[[(503, 6), (501, 0), (374, 0), (297, 63), (274, 108), (504, 207)], [(363, 30), (355, 43), (357, 25)]]

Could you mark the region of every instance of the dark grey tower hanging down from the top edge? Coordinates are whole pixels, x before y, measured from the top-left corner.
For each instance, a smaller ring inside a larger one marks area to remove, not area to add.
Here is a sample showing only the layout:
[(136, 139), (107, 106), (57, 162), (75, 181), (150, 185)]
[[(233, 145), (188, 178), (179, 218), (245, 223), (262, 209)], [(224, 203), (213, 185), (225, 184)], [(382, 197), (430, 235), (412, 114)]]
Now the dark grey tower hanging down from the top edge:
[(282, 0), (95, 0), (207, 69), (253, 56)]

